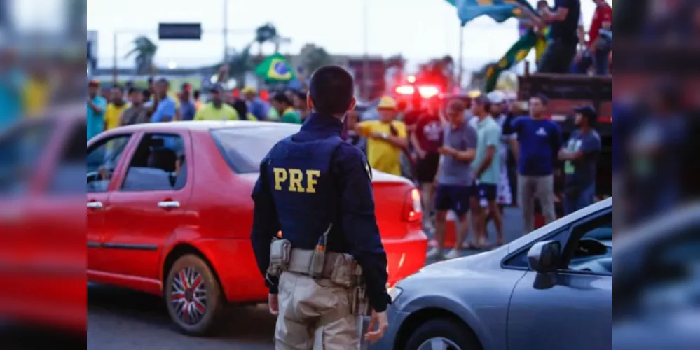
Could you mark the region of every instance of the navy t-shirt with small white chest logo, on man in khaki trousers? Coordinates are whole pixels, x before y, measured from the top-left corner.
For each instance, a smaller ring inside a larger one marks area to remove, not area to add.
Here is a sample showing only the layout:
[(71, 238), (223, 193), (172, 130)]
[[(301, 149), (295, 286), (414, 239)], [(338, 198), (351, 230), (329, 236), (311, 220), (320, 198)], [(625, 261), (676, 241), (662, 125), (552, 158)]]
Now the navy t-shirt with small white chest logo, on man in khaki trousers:
[(534, 120), (526, 116), (513, 120), (512, 127), (518, 135), (519, 173), (524, 176), (551, 175), (561, 147), (559, 125), (552, 120)]

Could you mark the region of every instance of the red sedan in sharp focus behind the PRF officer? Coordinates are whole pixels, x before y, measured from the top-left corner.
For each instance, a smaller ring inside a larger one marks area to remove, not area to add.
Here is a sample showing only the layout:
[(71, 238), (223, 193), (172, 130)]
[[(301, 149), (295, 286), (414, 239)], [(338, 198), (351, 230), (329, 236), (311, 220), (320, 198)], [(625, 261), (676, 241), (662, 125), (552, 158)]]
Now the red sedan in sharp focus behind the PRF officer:
[[(88, 141), (88, 280), (163, 295), (172, 320), (201, 335), (228, 303), (265, 302), (250, 244), (259, 162), (298, 125), (133, 125)], [(390, 284), (425, 263), (420, 195), (375, 172)]]

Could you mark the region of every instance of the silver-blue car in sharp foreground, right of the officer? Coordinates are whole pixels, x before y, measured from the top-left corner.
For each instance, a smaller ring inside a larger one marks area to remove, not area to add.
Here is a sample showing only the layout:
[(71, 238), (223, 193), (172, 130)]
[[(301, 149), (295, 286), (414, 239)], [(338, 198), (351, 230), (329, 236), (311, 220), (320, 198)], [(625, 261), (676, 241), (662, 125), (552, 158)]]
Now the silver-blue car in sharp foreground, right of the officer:
[(390, 290), (372, 349), (612, 349), (612, 198)]

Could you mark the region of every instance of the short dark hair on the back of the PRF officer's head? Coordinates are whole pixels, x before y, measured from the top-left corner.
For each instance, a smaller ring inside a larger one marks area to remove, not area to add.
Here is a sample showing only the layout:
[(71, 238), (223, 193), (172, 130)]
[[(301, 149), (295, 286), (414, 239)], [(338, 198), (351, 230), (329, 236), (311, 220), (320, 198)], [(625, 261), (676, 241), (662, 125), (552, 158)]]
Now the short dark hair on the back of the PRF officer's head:
[(309, 96), (313, 107), (322, 114), (342, 114), (350, 109), (355, 84), (340, 66), (322, 66), (311, 76)]

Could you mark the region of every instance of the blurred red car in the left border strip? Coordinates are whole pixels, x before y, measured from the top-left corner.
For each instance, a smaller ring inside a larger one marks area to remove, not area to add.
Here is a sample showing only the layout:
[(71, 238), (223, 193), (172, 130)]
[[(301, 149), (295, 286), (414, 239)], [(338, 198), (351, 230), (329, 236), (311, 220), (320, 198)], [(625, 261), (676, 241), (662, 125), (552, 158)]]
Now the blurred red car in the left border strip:
[(0, 318), (85, 332), (85, 107), (0, 132)]

